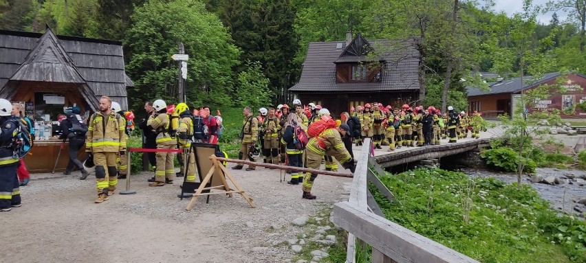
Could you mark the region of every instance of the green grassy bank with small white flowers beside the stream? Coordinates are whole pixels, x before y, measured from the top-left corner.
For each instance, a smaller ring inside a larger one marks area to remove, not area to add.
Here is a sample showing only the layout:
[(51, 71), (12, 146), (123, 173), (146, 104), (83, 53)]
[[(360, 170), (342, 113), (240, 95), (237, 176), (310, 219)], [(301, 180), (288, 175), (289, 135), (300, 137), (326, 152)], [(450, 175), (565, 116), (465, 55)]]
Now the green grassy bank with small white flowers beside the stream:
[(418, 169), (371, 192), (391, 221), (480, 262), (586, 262), (586, 223), (558, 214), (529, 185)]

